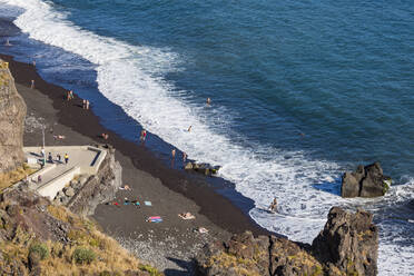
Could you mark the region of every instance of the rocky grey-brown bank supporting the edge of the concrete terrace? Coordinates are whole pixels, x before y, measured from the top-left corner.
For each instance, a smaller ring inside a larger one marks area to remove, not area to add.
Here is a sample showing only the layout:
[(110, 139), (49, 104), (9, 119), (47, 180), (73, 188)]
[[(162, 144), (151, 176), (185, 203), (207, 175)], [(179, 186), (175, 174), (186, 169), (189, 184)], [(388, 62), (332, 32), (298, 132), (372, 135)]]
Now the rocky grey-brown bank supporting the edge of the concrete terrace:
[(115, 160), (115, 149), (109, 147), (107, 156), (101, 162), (97, 175), (81, 176), (72, 180), (70, 186), (60, 193), (62, 201), (71, 211), (89, 216), (95, 213), (98, 204), (108, 201), (115, 197), (122, 184), (122, 167)]

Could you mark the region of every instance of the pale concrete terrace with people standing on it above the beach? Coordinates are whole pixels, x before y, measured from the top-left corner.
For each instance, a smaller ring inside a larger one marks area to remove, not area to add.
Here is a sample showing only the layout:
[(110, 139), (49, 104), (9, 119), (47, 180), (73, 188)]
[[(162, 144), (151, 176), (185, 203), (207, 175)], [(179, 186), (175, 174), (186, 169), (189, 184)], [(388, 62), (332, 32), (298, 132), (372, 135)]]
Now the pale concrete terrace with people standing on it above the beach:
[[(43, 159), (41, 147), (24, 147), (23, 151), (30, 166), (39, 166), (38, 164)], [(75, 176), (95, 175), (107, 155), (105, 149), (91, 146), (46, 147), (45, 152), (46, 166), (30, 176), (29, 187), (50, 199), (53, 199)], [(49, 152), (53, 162), (48, 161)], [(61, 156), (60, 161), (57, 159), (58, 154)], [(69, 156), (68, 164), (65, 164), (65, 154)], [(38, 181), (39, 175), (41, 181)]]

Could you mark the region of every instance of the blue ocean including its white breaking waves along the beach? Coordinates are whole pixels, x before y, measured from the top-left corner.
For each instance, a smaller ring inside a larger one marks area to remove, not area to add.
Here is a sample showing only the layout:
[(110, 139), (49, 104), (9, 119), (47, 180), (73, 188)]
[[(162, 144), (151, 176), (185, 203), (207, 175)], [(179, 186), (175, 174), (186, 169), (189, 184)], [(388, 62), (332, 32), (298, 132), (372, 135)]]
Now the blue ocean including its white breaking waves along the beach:
[[(312, 243), (332, 206), (364, 208), (379, 275), (414, 275), (411, 1), (0, 0), (0, 26), (1, 52), (108, 128), (221, 166), (260, 226)], [(342, 198), (341, 175), (373, 161), (390, 193)]]

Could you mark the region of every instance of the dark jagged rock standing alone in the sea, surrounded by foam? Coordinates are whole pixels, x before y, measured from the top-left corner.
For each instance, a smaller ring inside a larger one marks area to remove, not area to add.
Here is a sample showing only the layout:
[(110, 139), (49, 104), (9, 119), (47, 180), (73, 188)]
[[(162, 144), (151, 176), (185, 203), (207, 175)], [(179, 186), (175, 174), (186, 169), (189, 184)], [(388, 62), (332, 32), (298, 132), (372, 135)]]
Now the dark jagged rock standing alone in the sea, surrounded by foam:
[(359, 165), (353, 172), (342, 177), (341, 196), (378, 197), (384, 196), (391, 186), (391, 177), (383, 175), (379, 162), (368, 166)]

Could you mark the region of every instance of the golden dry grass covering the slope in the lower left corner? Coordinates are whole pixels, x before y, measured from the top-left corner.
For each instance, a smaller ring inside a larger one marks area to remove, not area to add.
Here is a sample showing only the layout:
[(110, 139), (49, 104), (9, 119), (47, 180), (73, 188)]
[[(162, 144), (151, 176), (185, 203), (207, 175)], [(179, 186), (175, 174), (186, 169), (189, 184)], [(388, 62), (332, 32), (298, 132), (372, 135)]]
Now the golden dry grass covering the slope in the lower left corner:
[[(61, 206), (50, 205), (47, 209), (51, 216), (69, 225), (70, 230), (67, 235), (69, 243), (63, 245), (59, 241), (39, 240), (30, 230), (18, 227), (11, 240), (0, 243), (0, 256), (3, 257), (0, 258), (0, 275), (16, 272), (16, 264), (22, 265), (23, 275), (28, 275), (24, 264), (33, 245), (40, 245), (48, 252), (48, 256), (40, 262), (42, 276), (106, 275), (105, 272), (110, 275), (124, 275), (127, 270), (147, 272), (151, 276), (162, 275), (154, 267), (140, 263), (115, 239), (100, 233), (89, 219), (79, 217)], [(77, 264), (73, 259), (73, 252), (77, 248), (91, 250), (96, 258), (90, 264)]]

